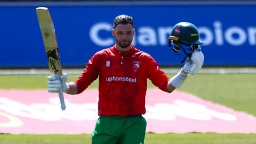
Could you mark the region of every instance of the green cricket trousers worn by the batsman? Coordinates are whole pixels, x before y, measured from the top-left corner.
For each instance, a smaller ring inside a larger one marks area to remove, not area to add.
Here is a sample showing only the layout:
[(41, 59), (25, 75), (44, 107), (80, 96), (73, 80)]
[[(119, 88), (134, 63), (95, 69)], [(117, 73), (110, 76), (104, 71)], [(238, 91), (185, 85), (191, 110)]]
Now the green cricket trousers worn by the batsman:
[(92, 133), (92, 144), (143, 144), (146, 119), (138, 116), (100, 116)]

